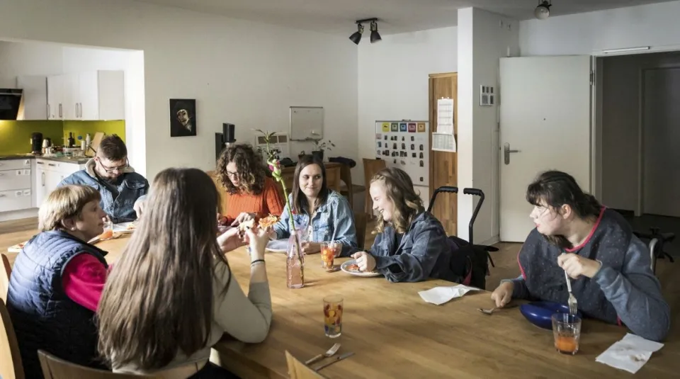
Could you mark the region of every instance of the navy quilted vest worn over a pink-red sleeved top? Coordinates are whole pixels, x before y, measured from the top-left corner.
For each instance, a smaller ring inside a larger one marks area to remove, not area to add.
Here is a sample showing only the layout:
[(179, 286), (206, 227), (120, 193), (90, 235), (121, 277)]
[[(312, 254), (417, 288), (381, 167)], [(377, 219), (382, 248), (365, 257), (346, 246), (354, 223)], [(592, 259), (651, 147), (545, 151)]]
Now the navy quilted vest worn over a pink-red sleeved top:
[(62, 231), (36, 235), (16, 257), (7, 307), (26, 378), (42, 378), (38, 349), (82, 366), (103, 368), (96, 358), (94, 312), (68, 298), (62, 288), (64, 268), (81, 253), (107, 266), (106, 251)]

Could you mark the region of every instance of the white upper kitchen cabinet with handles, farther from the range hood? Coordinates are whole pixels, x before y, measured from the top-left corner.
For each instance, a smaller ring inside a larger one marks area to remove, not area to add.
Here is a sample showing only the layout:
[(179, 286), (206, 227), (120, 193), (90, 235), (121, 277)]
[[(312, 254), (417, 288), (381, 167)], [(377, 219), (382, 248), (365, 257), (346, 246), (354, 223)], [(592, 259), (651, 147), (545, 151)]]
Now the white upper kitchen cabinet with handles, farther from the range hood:
[(47, 99), (47, 108), (55, 109), (50, 119), (124, 120), (125, 73), (93, 71), (49, 77)]

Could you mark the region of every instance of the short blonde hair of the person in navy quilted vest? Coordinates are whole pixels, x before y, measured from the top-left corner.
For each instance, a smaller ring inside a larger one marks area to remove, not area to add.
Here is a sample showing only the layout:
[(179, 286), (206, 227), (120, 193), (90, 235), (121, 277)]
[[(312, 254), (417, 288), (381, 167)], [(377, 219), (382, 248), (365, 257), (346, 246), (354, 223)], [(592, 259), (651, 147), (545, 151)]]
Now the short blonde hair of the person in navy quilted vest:
[(62, 220), (80, 217), (83, 207), (101, 200), (99, 191), (90, 186), (62, 186), (52, 191), (40, 205), (39, 228), (42, 232), (61, 228)]

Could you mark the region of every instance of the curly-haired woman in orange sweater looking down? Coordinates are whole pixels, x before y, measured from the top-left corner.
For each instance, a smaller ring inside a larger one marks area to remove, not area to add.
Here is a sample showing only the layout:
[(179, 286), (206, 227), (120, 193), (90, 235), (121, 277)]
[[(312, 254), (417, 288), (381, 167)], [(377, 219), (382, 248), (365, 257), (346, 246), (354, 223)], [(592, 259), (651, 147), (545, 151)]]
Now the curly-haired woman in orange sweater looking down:
[(283, 198), (276, 182), (266, 173), (262, 157), (251, 145), (231, 145), (222, 152), (217, 162), (217, 181), (227, 195), (221, 224), (234, 226), (268, 215), (281, 215)]

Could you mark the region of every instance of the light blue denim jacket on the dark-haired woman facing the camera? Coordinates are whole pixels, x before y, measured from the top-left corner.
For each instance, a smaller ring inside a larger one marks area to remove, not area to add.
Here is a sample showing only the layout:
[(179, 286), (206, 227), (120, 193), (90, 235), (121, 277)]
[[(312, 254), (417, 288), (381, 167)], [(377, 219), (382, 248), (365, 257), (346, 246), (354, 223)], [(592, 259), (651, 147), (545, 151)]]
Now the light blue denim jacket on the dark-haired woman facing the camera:
[[(293, 203), (293, 195), (288, 196), (289, 203)], [(278, 239), (290, 237), (290, 210), (288, 205), (283, 208), (280, 219), (274, 225)], [(310, 215), (293, 215), (295, 229), (307, 231)], [(312, 219), (312, 236), (309, 241), (329, 242), (335, 234), (335, 241), (343, 245), (343, 250), (356, 248), (356, 228), (354, 215), (347, 199), (335, 191), (329, 190), (326, 203), (319, 206), (317, 214)]]

